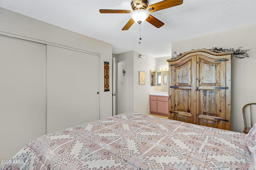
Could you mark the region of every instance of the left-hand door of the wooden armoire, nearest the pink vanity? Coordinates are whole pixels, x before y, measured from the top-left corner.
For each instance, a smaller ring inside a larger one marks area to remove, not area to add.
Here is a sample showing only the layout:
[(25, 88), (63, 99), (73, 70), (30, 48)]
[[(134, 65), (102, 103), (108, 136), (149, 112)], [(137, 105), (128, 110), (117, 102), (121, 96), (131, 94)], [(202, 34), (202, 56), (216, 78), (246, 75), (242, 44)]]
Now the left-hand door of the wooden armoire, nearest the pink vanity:
[(195, 123), (195, 57), (172, 62), (170, 68), (171, 108), (168, 118)]

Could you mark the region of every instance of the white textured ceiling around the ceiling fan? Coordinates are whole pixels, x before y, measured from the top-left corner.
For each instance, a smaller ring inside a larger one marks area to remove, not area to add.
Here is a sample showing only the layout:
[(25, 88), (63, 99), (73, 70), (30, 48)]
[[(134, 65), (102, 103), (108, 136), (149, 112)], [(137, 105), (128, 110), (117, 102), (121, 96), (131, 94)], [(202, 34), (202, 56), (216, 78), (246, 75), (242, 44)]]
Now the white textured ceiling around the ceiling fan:
[[(149, 5), (161, 0), (149, 0)], [(164, 22), (156, 28), (134, 23), (122, 31), (130, 14), (100, 14), (100, 9), (132, 10), (132, 0), (0, 0), (0, 7), (112, 44), (112, 53), (138, 51), (171, 56), (173, 41), (256, 23), (256, 0), (183, 0), (150, 13)]]

